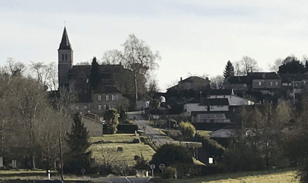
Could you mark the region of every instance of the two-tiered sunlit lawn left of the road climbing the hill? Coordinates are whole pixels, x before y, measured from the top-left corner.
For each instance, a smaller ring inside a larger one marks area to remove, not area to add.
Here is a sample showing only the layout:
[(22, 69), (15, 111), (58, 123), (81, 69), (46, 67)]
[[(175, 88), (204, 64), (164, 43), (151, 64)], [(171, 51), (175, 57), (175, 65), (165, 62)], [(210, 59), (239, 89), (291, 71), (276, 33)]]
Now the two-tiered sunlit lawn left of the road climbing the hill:
[[(142, 142), (138, 144), (127, 143), (128, 141), (131, 142), (134, 138), (140, 140), (139, 136), (135, 136), (134, 134), (113, 134), (104, 135), (103, 137), (91, 137), (90, 141), (92, 144), (89, 150), (92, 151), (92, 158), (95, 158), (95, 161), (99, 164), (104, 162), (104, 156), (106, 157), (107, 154), (112, 154), (112, 157), (116, 157), (118, 160), (124, 160), (129, 165), (136, 163), (134, 160), (135, 155), (142, 154), (146, 160), (151, 160), (155, 151), (149, 145), (145, 145)], [(99, 143), (99, 141), (120, 143)], [(118, 147), (122, 147), (123, 151), (118, 152)]]

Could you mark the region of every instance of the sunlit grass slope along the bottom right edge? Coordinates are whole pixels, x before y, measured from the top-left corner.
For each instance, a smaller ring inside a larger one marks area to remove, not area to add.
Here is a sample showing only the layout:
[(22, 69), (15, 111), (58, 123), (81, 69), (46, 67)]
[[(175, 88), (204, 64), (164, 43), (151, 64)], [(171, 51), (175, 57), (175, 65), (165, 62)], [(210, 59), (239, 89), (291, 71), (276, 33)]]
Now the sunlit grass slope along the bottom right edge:
[(193, 179), (168, 180), (168, 183), (298, 183), (294, 169), (258, 172), (241, 172), (198, 177)]

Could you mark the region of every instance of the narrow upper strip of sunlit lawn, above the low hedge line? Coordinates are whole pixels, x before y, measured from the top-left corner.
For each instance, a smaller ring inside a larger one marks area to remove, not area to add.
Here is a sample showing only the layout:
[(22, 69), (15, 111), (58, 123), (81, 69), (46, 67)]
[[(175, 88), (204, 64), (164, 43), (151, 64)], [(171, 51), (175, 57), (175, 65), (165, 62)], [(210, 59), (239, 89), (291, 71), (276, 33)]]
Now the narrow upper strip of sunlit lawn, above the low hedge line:
[(90, 142), (99, 142), (99, 141), (107, 141), (107, 142), (131, 142), (134, 138), (139, 139), (139, 135), (135, 136), (135, 134), (131, 133), (119, 133), (119, 134), (106, 134), (103, 137), (90, 137)]

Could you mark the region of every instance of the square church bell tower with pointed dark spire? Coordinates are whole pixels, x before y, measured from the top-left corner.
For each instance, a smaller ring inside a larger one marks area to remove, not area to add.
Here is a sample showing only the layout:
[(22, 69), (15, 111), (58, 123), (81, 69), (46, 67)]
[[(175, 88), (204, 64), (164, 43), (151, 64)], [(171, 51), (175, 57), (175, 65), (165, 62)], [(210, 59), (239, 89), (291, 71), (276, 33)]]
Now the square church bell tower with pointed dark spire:
[(73, 50), (68, 40), (66, 27), (64, 26), (62, 40), (58, 49), (58, 80), (59, 88), (68, 87), (68, 73), (73, 66)]

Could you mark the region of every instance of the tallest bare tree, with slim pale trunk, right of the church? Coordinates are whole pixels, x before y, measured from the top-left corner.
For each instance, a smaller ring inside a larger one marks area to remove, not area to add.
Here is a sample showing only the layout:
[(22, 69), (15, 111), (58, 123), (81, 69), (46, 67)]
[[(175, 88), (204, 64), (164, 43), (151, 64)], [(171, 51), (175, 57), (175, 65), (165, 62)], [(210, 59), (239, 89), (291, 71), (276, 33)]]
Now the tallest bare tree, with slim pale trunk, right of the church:
[(122, 45), (124, 51), (121, 55), (123, 64), (126, 68), (133, 71), (136, 104), (138, 101), (137, 75), (145, 76), (148, 70), (155, 70), (158, 67), (156, 60), (160, 59), (158, 51), (152, 52), (150, 47), (143, 41), (138, 39), (134, 34), (128, 35), (128, 39)]

